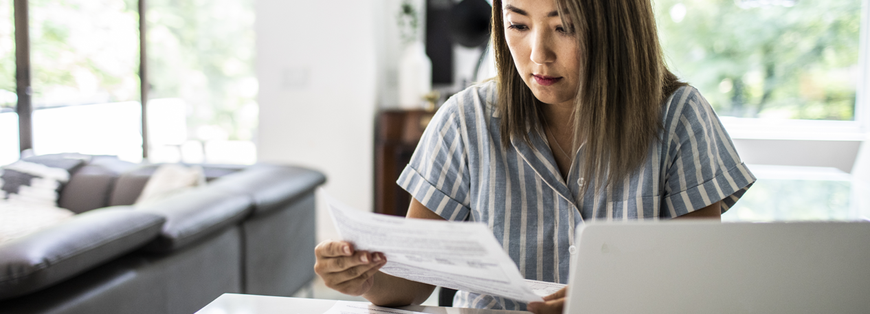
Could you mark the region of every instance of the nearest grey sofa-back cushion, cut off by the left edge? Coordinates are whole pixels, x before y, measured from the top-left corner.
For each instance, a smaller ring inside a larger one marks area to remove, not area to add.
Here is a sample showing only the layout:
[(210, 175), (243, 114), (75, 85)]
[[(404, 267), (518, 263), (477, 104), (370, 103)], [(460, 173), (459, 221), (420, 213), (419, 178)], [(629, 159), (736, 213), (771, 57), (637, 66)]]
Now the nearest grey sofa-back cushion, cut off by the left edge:
[(0, 300), (57, 284), (157, 237), (164, 217), (129, 206), (90, 210), (0, 245)]

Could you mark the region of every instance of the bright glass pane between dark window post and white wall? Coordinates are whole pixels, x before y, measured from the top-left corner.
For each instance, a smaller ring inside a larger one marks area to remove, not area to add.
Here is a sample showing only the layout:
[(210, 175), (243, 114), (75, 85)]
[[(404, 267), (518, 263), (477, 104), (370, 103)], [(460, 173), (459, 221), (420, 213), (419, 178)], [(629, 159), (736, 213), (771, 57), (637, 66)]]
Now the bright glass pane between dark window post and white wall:
[(149, 157), (252, 164), (253, 0), (149, 0)]

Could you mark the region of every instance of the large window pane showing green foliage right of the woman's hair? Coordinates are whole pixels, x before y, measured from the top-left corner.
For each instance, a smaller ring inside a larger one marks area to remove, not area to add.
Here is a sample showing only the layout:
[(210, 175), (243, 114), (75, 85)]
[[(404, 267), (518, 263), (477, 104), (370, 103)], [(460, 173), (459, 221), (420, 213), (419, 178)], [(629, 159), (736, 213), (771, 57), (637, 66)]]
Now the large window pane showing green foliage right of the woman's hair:
[(854, 119), (861, 0), (653, 3), (671, 70), (720, 116)]

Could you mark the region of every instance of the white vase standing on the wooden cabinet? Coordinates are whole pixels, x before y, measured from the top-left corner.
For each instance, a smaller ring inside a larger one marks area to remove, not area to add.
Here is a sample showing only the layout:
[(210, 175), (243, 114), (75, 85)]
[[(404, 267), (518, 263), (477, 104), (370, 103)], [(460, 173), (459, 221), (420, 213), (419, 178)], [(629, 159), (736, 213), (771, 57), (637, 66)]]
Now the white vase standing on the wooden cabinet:
[(432, 60), (420, 41), (405, 46), (398, 62), (398, 105), (404, 109), (423, 108), (423, 96), (432, 91)]

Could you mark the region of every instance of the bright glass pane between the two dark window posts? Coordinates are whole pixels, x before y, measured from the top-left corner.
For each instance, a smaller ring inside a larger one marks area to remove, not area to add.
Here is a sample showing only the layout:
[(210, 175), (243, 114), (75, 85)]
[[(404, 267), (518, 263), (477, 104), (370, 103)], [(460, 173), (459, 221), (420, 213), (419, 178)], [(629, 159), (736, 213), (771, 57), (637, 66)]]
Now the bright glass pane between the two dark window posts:
[(136, 0), (31, 0), (33, 146), (141, 160)]

